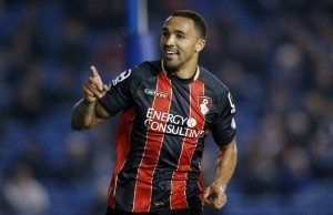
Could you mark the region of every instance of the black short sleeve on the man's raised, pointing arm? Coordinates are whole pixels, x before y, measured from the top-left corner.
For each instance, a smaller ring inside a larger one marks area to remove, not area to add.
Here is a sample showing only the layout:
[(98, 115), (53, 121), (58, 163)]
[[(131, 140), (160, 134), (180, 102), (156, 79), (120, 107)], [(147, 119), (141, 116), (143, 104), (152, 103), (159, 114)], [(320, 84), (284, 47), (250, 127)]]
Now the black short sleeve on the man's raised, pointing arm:
[(133, 105), (135, 89), (140, 84), (140, 80), (135, 73), (140, 72), (139, 68), (130, 69), (110, 83), (110, 90), (99, 100), (100, 104), (108, 111), (110, 115), (114, 115)]

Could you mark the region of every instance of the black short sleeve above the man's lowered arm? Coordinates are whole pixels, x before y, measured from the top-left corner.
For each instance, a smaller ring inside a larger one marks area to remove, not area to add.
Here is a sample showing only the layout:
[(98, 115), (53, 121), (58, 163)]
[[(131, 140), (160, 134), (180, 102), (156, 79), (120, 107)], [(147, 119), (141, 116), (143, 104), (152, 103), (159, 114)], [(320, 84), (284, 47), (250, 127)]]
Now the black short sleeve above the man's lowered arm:
[(234, 121), (235, 105), (232, 101), (231, 93), (225, 91), (218, 95), (215, 105), (218, 114), (213, 120), (211, 131), (216, 145), (223, 146), (231, 143), (236, 134)]

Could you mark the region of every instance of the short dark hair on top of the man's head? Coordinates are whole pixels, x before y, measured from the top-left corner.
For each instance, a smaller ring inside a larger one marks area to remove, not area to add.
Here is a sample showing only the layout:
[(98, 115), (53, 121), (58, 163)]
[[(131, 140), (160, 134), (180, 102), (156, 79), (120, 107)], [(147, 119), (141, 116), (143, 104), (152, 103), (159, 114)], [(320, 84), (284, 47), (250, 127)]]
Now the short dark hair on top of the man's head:
[(199, 30), (200, 37), (206, 39), (206, 23), (201, 14), (191, 10), (179, 10), (171, 14), (171, 17), (188, 18), (194, 22), (195, 28)]

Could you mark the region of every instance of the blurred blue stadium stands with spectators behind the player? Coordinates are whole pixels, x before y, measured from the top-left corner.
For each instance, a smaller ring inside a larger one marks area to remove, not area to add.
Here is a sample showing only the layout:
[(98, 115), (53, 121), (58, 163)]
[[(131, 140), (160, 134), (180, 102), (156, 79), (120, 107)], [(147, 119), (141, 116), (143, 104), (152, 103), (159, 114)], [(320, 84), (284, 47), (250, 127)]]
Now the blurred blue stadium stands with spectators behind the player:
[[(103, 214), (118, 117), (69, 122), (94, 64), (127, 69), (123, 0), (0, 0), (0, 214)], [(333, 214), (333, 1), (148, 0), (160, 29), (174, 10), (209, 23), (201, 65), (236, 104), (239, 165), (219, 215)], [(159, 58), (159, 57), (158, 57)], [(203, 172), (214, 177), (209, 140)]]

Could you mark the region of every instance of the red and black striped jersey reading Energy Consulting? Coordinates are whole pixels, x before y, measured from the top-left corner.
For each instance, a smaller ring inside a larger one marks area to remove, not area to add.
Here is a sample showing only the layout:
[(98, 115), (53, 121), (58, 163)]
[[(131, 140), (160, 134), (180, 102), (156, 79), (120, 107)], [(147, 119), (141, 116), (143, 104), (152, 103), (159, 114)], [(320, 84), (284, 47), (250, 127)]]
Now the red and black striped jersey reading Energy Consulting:
[(218, 146), (235, 136), (235, 108), (226, 86), (198, 66), (178, 79), (161, 61), (143, 62), (111, 82), (100, 100), (122, 111), (109, 207), (128, 212), (202, 208), (200, 163), (209, 131)]

